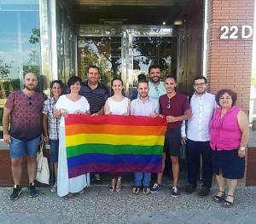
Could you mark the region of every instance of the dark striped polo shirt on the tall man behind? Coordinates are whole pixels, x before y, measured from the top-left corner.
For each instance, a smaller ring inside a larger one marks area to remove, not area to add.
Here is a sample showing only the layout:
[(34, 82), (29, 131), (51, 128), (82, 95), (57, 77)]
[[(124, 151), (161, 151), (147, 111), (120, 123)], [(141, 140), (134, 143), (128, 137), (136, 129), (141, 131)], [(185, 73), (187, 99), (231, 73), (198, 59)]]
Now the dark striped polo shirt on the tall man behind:
[(108, 89), (102, 83), (98, 83), (96, 89), (90, 89), (88, 81), (82, 83), (79, 95), (83, 95), (89, 102), (91, 114), (99, 112), (109, 97)]

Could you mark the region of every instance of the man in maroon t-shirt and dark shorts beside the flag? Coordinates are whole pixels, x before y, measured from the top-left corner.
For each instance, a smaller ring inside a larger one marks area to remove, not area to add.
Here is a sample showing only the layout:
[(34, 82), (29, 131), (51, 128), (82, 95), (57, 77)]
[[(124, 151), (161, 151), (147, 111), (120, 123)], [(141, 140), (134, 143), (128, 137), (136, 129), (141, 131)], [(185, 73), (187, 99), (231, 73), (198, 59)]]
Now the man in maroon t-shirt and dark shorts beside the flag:
[(177, 178), (179, 173), (178, 153), (181, 143), (181, 126), (183, 121), (191, 118), (192, 114), (188, 97), (176, 92), (176, 78), (167, 76), (165, 87), (166, 95), (161, 95), (159, 99), (160, 114), (165, 116), (167, 121), (162, 172), (157, 175), (157, 182), (151, 187), (151, 192), (158, 192), (162, 187), (161, 181), (166, 164), (166, 152), (169, 152), (173, 174), (172, 197), (177, 197), (180, 195), (177, 189)]

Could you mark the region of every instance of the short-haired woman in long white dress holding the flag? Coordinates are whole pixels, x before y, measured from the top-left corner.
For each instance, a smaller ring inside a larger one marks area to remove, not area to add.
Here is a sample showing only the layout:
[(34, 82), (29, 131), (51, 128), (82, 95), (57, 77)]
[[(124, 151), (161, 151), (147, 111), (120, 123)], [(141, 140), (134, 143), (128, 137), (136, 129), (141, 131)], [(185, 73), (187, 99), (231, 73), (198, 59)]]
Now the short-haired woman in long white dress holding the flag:
[(60, 146), (59, 146), (59, 166), (58, 166), (58, 181), (57, 194), (60, 197), (73, 196), (73, 193), (78, 192), (79, 195), (84, 193), (84, 187), (90, 186), (90, 175), (79, 175), (77, 177), (68, 178), (67, 173), (67, 152), (65, 142), (65, 118), (68, 114), (85, 114), (90, 113), (90, 105), (84, 96), (79, 95), (82, 79), (73, 76), (68, 79), (67, 87), (70, 89), (70, 94), (61, 95), (55, 104), (55, 116), (61, 117), (60, 123)]

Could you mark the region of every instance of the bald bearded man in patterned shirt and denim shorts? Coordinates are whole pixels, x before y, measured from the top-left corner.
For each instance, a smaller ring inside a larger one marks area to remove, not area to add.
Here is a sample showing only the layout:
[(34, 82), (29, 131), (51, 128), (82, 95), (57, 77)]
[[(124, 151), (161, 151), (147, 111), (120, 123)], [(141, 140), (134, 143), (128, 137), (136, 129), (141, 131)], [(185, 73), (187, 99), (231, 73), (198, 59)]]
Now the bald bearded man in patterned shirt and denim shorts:
[[(3, 110), (3, 141), (9, 144), (11, 169), (15, 186), (11, 200), (21, 192), (22, 158), (26, 156), (29, 179), (28, 196), (38, 196), (34, 179), (37, 169), (38, 145), (42, 134), (42, 106), (44, 95), (36, 92), (37, 76), (29, 72), (24, 78), (25, 88), (12, 92)], [(10, 127), (9, 127), (10, 126)]]

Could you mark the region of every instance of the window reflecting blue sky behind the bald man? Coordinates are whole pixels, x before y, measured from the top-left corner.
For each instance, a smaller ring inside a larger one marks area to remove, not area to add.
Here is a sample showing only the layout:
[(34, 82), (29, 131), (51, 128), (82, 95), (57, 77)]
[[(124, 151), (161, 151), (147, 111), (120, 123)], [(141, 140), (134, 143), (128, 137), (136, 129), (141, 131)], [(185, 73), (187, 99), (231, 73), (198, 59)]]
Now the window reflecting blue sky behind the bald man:
[(0, 2), (0, 138), (3, 138), (3, 106), (10, 91), (23, 89), (26, 72), (40, 76), (38, 0)]

